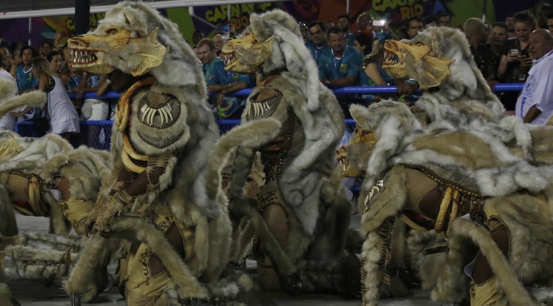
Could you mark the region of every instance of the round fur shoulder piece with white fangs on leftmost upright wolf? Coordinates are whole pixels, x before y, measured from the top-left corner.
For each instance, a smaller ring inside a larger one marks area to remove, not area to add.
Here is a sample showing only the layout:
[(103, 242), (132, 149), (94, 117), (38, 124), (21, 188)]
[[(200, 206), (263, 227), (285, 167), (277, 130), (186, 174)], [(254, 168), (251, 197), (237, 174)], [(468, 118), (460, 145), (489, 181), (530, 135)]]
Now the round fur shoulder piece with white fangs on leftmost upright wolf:
[(184, 95), (178, 97), (161, 86), (152, 86), (133, 98), (129, 137), (145, 155), (174, 151), (190, 137)]

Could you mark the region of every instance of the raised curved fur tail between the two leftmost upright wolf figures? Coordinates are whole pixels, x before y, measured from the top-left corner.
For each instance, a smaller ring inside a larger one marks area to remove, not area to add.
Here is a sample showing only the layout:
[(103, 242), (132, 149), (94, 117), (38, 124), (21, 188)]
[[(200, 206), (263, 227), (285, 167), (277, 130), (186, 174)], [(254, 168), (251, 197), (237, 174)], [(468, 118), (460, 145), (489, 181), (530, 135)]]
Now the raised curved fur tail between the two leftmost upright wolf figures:
[(221, 170), (228, 161), (228, 156), (237, 147), (259, 147), (275, 138), (281, 128), (275, 119), (259, 119), (233, 128), (217, 142), (211, 155), (206, 176), (207, 197), (216, 199), (221, 186)]

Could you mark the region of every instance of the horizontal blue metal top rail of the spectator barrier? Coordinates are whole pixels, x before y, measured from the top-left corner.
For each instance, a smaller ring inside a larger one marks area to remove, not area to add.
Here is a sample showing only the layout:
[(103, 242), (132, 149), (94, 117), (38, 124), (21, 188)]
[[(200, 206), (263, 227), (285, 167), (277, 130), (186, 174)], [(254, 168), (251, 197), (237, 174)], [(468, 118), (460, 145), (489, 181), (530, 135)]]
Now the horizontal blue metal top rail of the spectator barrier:
[[(494, 92), (507, 92), (507, 91), (522, 91), (524, 88), (524, 83), (503, 83), (503, 84), (496, 84), (494, 86), (493, 91)], [(252, 93), (253, 88), (246, 88), (241, 89), (234, 93), (229, 93), (227, 96), (248, 96), (250, 93)], [(398, 87), (397, 86), (351, 86), (351, 87), (342, 87), (342, 88), (336, 88), (332, 90), (335, 94), (355, 94), (355, 93), (366, 93), (366, 94), (375, 94), (375, 93), (397, 93)], [(420, 93), (420, 92), (419, 92)], [(216, 97), (217, 93), (208, 93), (209, 96)], [(75, 94), (71, 93), (69, 94), (71, 98), (75, 98)], [(86, 99), (98, 99), (98, 98), (119, 98), (121, 94), (116, 92), (107, 92), (103, 94), (101, 97), (98, 97), (98, 95), (95, 92), (89, 92), (83, 94), (83, 97)]]

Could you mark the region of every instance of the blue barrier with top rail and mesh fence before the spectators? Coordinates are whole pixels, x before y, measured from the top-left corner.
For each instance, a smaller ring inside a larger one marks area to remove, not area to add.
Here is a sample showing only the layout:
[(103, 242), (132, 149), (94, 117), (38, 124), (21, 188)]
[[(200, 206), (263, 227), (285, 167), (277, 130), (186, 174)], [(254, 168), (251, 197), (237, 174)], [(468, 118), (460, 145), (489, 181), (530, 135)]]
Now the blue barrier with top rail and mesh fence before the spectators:
[[(506, 92), (506, 91), (521, 91), (524, 84), (513, 83), (513, 84), (497, 84), (495, 85), (494, 91), (496, 92)], [(251, 88), (242, 89), (240, 91), (232, 94), (233, 96), (247, 96), (252, 92)], [(374, 94), (374, 93), (396, 93), (397, 87), (395, 86), (353, 86), (353, 87), (344, 87), (335, 89), (334, 93), (336, 94)], [(210, 94), (213, 96), (214, 94)], [(216, 94), (215, 94), (216, 95)], [(74, 94), (70, 94), (74, 96)], [(95, 98), (118, 98), (119, 94), (114, 92), (108, 92), (102, 97), (98, 97), (96, 93), (86, 93), (84, 95), (87, 99)], [(75, 147), (80, 145), (86, 145), (94, 149), (100, 150), (109, 150), (111, 146), (111, 128), (112, 121), (103, 120), (103, 121), (81, 121), (81, 133), (78, 136), (75, 136), (72, 139), (71, 143)], [(217, 120), (217, 125), (221, 135), (226, 134), (234, 126), (240, 124), (238, 119), (226, 119), (226, 120)], [(342, 144), (347, 143), (351, 133), (355, 130), (356, 123), (352, 119), (346, 119), (346, 130), (344, 137), (341, 141)], [(31, 137), (32, 132), (32, 123), (30, 122), (21, 122), (15, 125), (15, 132), (19, 135)]]

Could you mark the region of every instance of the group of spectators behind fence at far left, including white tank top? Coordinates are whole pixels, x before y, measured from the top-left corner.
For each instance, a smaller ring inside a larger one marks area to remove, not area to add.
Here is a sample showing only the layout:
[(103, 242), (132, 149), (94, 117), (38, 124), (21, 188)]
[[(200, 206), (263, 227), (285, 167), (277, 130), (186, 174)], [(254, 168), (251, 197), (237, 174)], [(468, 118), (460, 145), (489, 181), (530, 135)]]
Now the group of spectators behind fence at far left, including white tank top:
[[(0, 78), (13, 81), (18, 94), (38, 90), (48, 97), (44, 108), (24, 107), (0, 119), (1, 130), (14, 130), (15, 122), (29, 121), (32, 136), (54, 133), (71, 140), (80, 133), (80, 119), (106, 120), (113, 113), (117, 101), (83, 98), (87, 92), (109, 90), (109, 81), (74, 68), (67, 45), (57, 44), (60, 38), (61, 33), (56, 33), (54, 40), (44, 40), (38, 49), (0, 40)], [(92, 118), (93, 113), (100, 115)]]

